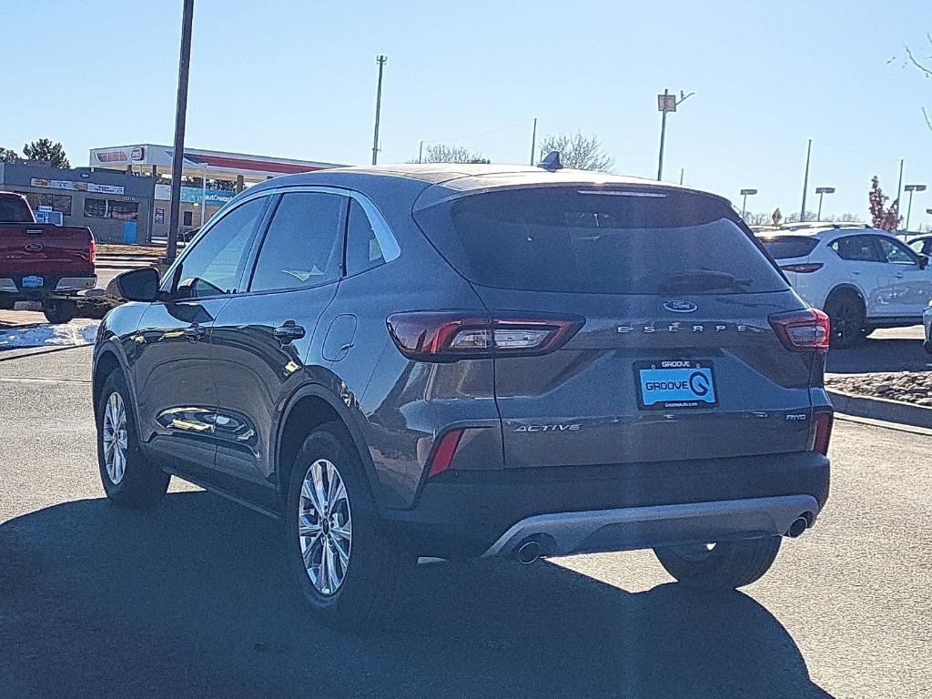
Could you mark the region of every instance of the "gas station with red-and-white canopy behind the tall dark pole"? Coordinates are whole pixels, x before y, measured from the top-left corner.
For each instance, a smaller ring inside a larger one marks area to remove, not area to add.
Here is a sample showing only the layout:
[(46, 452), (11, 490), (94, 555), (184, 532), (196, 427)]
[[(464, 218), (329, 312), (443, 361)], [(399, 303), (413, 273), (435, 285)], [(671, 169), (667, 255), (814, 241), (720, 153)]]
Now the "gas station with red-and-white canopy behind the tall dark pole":
[[(168, 235), (171, 199), (171, 154), (168, 145), (135, 144), (92, 148), (90, 167), (119, 170), (151, 177), (155, 181), (151, 237)], [(245, 153), (185, 148), (182, 165), (182, 231), (200, 226), (212, 213), (244, 187), (283, 174), (340, 167), (336, 163), (268, 158)]]

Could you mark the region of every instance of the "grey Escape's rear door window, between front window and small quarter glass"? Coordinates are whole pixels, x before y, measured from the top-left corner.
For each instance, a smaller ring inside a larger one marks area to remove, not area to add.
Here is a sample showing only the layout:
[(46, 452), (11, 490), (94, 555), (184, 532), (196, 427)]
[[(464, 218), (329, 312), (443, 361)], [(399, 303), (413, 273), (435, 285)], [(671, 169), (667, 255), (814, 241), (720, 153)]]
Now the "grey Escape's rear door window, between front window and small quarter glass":
[(256, 259), (250, 291), (300, 289), (338, 280), (346, 200), (322, 192), (282, 196)]

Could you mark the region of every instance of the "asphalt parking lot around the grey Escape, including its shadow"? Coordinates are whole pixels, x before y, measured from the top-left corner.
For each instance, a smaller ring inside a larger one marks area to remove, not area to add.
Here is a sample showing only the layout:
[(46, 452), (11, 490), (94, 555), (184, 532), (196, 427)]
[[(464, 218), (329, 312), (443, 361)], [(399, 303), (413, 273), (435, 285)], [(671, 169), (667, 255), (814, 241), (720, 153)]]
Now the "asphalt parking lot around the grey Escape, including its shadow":
[(278, 525), (198, 488), (102, 498), (89, 349), (0, 354), (0, 696), (920, 697), (932, 435), (836, 424), (832, 495), (743, 592), (649, 552), (422, 566), (368, 637), (304, 618)]

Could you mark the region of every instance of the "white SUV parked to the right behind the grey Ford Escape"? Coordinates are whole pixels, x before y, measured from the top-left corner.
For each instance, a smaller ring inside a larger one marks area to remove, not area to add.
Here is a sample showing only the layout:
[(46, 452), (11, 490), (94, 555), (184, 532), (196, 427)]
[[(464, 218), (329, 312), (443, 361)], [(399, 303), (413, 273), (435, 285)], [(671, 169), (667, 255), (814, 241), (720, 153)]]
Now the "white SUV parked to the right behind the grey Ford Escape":
[(831, 319), (833, 347), (916, 325), (932, 298), (929, 258), (868, 226), (794, 226), (760, 236), (789, 282)]

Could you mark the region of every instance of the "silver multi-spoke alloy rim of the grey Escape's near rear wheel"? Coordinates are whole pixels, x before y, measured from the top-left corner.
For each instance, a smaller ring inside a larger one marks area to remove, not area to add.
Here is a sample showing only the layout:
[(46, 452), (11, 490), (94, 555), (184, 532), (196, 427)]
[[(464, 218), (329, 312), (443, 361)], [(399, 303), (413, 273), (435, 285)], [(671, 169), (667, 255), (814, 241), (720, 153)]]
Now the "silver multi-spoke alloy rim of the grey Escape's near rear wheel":
[(322, 595), (334, 595), (349, 567), (352, 516), (343, 478), (328, 459), (317, 459), (305, 473), (297, 532), (310, 582)]

